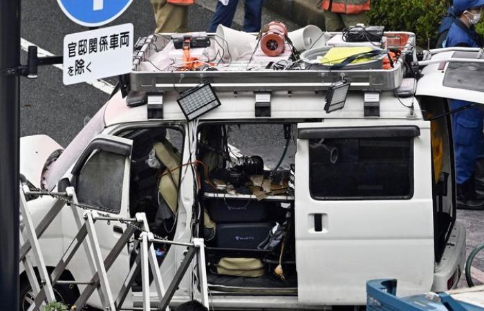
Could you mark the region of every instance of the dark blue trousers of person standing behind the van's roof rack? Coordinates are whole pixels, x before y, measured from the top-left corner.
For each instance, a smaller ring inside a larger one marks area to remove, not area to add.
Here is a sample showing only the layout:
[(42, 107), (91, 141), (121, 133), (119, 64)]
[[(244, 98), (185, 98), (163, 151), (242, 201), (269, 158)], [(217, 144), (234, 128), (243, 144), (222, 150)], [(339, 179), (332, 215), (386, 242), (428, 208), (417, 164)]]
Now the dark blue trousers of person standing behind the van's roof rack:
[[(259, 32), (261, 30), (262, 3), (263, 0), (245, 0), (243, 31)], [(227, 6), (217, 1), (217, 8), (214, 16), (210, 20), (208, 32), (216, 32), (219, 24), (225, 27), (231, 27), (237, 4), (239, 4), (239, 0), (230, 0)]]

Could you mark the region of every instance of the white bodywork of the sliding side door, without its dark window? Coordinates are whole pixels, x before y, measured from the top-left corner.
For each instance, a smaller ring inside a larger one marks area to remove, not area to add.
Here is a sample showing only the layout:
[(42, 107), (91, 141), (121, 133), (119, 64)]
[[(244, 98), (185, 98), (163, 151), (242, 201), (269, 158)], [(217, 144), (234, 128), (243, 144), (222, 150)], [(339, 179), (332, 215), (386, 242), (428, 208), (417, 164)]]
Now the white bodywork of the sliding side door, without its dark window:
[[(299, 129), (335, 127), (299, 124)], [(382, 126), (362, 120), (353, 126)], [(411, 124), (410, 124), (411, 123)], [(429, 122), (413, 140), (413, 196), (409, 200), (315, 200), (311, 197), (309, 141), (296, 156), (296, 249), (299, 303), (353, 305), (366, 301), (370, 279), (398, 279), (398, 295), (427, 292), (434, 277), (434, 229)], [(315, 215), (323, 229), (315, 230)]]

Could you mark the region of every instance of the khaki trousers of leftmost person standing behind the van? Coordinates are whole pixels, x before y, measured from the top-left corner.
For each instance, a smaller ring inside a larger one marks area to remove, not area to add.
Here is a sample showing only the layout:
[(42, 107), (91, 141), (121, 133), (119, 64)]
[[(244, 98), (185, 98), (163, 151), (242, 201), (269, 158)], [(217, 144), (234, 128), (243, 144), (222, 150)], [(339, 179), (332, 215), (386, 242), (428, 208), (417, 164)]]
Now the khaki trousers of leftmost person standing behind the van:
[(156, 33), (189, 32), (188, 6), (167, 3), (166, 0), (151, 0), (155, 13)]

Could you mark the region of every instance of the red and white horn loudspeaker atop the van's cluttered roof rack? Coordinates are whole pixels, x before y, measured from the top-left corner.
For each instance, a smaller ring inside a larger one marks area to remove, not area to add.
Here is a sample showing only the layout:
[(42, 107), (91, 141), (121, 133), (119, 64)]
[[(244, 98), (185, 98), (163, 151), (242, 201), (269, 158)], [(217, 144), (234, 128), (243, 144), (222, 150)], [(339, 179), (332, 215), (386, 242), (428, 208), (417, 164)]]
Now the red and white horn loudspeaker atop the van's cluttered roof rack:
[(271, 21), (263, 28), (261, 35), (262, 52), (268, 56), (278, 56), (286, 50), (286, 25), (280, 21)]

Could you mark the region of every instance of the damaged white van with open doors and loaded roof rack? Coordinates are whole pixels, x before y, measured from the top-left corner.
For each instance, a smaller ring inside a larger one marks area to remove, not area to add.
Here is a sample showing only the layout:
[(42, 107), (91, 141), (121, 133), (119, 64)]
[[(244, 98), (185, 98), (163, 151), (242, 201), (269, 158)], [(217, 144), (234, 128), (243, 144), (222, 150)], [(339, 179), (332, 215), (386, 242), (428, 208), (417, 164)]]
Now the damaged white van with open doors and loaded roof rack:
[[(256, 85), (257, 74), (236, 87), (231, 81), (211, 81), (221, 106), (187, 122), (177, 92), (191, 88), (189, 77), (198, 73), (169, 73), (178, 85), (149, 84), (160, 89), (147, 95), (148, 104), (132, 106), (132, 97), (113, 95), (66, 149), (46, 135), (21, 138), (21, 173), (30, 187), (48, 191), (68, 178), (81, 203), (117, 217), (145, 212), (151, 231), (174, 241), (204, 238), (214, 310), (364, 305), (370, 279), (398, 279), (399, 296), (448, 290), (463, 270), (465, 229), (456, 223), (447, 99), (484, 104), (484, 84), (463, 88), (451, 79), (459, 67), (445, 61), (462, 57), (458, 53), (434, 55), (432, 60), (444, 63), (421, 70), (415, 96), (375, 93), (366, 89), (369, 84), (352, 82), (343, 109), (331, 113), (324, 111), (324, 96), (333, 84), (286, 83), (286, 73), (294, 71), (285, 70), (277, 81), (283, 86)], [(475, 57), (477, 51), (467, 53)], [(478, 81), (483, 67), (476, 66), (478, 75), (476, 70), (467, 74)], [(317, 70), (308, 72), (323, 77)], [(254, 91), (268, 100), (260, 105)], [(162, 111), (153, 117), (149, 102), (159, 102), (160, 95)], [(369, 106), (377, 107), (378, 115)], [(118, 144), (129, 152), (115, 148)], [(160, 160), (160, 145), (176, 165)], [(171, 183), (160, 181), (166, 177)], [(173, 185), (178, 189), (167, 193)], [(53, 200), (28, 201), (34, 222)], [(120, 223), (96, 227), (104, 254), (126, 229)], [(62, 257), (77, 234), (74, 228), (71, 210), (63, 209), (41, 236), (48, 267)], [(283, 234), (278, 239), (270, 232)], [(158, 245), (167, 283), (185, 250)], [(122, 285), (133, 252), (124, 249), (109, 270), (113, 292)], [(200, 296), (197, 271), (188, 270), (171, 308)], [(81, 249), (62, 279), (90, 277)], [(27, 310), (31, 292), (22, 268), (20, 280), (21, 310)], [(73, 303), (83, 288), (56, 285), (55, 292)], [(140, 288), (132, 290), (130, 298), (139, 305)], [(153, 306), (159, 301), (154, 292)], [(89, 305), (102, 307), (97, 295)]]

